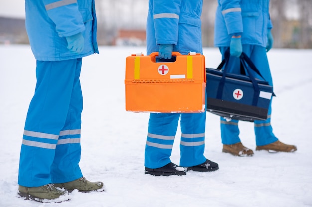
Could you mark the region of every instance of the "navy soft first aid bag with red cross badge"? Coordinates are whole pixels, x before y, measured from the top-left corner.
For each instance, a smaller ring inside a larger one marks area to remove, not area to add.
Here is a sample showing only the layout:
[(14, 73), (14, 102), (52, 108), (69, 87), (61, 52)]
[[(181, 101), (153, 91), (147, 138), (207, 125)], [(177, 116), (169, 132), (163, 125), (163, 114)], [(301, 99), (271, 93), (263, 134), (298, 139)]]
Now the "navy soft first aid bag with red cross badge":
[(252, 75), (251, 70), (262, 77), (245, 53), (240, 56), (241, 74), (229, 73), (226, 67), (222, 69), (228, 59), (229, 51), (225, 53), (217, 69), (206, 68), (207, 111), (226, 119), (250, 122), (266, 120), (271, 97), (274, 95), (273, 87), (267, 81)]

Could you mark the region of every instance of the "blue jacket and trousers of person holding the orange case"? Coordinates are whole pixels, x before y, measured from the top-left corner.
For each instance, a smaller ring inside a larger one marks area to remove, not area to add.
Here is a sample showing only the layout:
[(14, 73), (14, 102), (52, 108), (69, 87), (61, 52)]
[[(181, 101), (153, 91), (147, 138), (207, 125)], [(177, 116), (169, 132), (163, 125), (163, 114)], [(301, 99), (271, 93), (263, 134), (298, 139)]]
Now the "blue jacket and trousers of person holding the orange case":
[[(173, 44), (173, 51), (202, 54), (202, 0), (149, 0), (147, 53), (160, 44)], [(206, 113), (151, 113), (145, 148), (145, 167), (170, 163), (178, 121), (181, 118), (180, 166), (202, 164), (205, 148)]]

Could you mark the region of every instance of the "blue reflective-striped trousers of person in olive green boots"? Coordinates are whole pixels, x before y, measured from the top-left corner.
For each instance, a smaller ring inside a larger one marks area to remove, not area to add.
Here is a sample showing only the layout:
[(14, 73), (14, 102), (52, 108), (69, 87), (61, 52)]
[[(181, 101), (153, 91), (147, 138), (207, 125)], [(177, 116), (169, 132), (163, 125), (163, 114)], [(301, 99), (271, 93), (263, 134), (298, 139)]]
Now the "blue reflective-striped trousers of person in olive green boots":
[(37, 187), (82, 177), (82, 58), (37, 61), (35, 94), (30, 102), (19, 163), (18, 184)]

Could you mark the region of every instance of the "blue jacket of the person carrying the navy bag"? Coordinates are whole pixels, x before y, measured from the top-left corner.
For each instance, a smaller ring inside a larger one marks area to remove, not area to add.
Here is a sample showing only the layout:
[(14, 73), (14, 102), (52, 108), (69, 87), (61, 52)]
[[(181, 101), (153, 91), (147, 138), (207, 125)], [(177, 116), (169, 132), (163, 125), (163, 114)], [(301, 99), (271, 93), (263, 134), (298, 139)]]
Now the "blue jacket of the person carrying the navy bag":
[(241, 34), (242, 44), (266, 47), (268, 29), (272, 29), (269, 2), (270, 0), (218, 0), (215, 46), (230, 46), (232, 35)]

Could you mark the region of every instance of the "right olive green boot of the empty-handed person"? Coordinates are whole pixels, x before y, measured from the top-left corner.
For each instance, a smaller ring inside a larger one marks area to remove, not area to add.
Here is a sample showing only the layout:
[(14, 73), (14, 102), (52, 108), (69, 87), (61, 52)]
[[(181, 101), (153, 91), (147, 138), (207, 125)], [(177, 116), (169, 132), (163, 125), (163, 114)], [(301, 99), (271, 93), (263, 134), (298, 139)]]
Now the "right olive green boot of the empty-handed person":
[(78, 178), (67, 183), (55, 183), (55, 187), (64, 188), (65, 190), (72, 192), (77, 189), (79, 192), (101, 192), (105, 190), (102, 182), (90, 182), (85, 177)]

